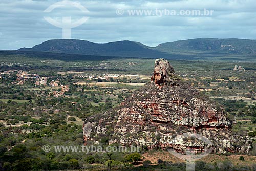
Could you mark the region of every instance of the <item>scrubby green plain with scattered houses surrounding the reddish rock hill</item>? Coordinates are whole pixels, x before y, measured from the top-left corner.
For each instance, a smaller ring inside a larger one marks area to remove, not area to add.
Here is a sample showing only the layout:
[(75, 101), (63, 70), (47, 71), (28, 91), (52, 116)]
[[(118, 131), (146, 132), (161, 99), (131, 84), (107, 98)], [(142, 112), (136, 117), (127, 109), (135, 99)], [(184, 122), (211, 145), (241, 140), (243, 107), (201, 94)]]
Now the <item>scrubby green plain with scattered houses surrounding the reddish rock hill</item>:
[[(0, 167), (5, 170), (185, 170), (185, 163), (180, 161), (170, 162), (162, 158), (152, 162), (144, 158), (145, 151), (54, 151), (54, 146), (81, 147), (84, 143), (83, 121), (95, 121), (105, 111), (118, 106), (139, 88), (133, 83), (150, 81), (153, 59), (106, 58), (104, 61), (68, 62), (58, 56), (56, 60), (41, 62), (41, 56), (31, 58), (27, 54), (21, 57), (12, 54), (13, 62), (10, 64), (12, 59), (8, 55), (1, 58), (3, 65), (0, 68), (1, 72), (5, 72), (0, 76)], [(223, 105), (228, 118), (233, 121), (234, 132), (246, 130), (250, 137), (256, 136), (254, 63), (184, 60), (172, 60), (170, 63), (181, 80), (193, 84), (203, 94)], [(241, 65), (246, 71), (233, 71), (234, 65)], [(39, 74), (48, 80), (40, 85), (36, 84), (37, 78), (23, 79), (23, 84), (18, 84), (20, 70)], [(104, 79), (104, 74), (120, 76)], [(51, 86), (52, 81), (58, 85)], [(61, 85), (67, 86), (66, 89), (62, 90)], [(96, 133), (91, 134), (97, 136)], [(106, 147), (108, 143), (109, 139), (105, 137), (97, 145)], [(51, 145), (51, 150), (44, 152), (44, 145)], [(92, 145), (92, 142), (87, 145)], [(154, 155), (155, 152), (152, 153)], [(255, 147), (250, 155), (251, 158), (256, 156)], [(243, 157), (237, 157), (235, 161), (199, 161), (196, 170), (255, 169), (252, 164), (254, 158), (250, 159), (245, 154)], [(138, 167), (133, 167), (137, 164)]]

